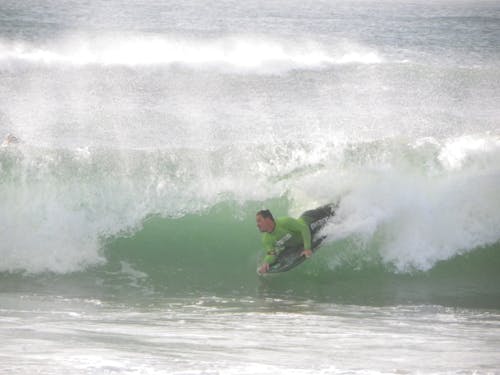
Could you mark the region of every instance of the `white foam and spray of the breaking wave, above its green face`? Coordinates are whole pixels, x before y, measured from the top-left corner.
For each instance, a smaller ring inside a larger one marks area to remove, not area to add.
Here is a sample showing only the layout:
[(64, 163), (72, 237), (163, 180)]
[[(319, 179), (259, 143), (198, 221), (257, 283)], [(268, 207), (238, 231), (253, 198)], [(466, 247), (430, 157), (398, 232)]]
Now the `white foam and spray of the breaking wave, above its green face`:
[[(500, 146), (488, 135), (468, 139), (313, 150), (300, 143), (153, 152), (4, 148), (2, 267), (81, 270), (104, 261), (107, 238), (133, 234), (151, 215), (203, 216), (224, 202), (245, 207), (285, 196), (282, 213), (295, 216), (340, 199), (328, 242), (356, 238), (357, 251), (375, 251), (399, 271), (428, 270), (499, 240)], [(468, 146), (480, 140), (489, 147)], [(457, 143), (465, 145), (460, 168), (444, 156)], [(197, 246), (218, 245), (200, 238)]]

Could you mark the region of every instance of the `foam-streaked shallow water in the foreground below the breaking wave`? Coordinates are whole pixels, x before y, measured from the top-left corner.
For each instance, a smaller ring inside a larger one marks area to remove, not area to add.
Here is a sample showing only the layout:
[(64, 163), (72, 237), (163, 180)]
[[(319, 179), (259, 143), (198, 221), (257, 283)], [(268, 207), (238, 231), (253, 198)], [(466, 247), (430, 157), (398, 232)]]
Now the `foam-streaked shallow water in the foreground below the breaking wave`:
[(487, 311), (273, 298), (3, 301), (10, 304), (1, 319), (5, 373), (493, 373), (498, 366), (500, 315)]

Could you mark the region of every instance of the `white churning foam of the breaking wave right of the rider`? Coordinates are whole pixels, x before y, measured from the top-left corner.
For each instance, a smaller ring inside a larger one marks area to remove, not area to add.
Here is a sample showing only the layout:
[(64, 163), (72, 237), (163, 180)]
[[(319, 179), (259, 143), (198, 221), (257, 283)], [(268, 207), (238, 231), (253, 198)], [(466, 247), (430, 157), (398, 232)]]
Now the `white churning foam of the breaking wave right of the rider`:
[[(425, 150), (427, 169), (405, 167), (402, 159), (344, 171), (341, 184), (349, 192), (326, 228), (331, 240), (355, 239), (360, 257), (376, 251), (403, 272), (428, 270), (500, 240), (499, 140), (464, 136), (415, 144)], [(331, 260), (332, 267), (341, 263)]]

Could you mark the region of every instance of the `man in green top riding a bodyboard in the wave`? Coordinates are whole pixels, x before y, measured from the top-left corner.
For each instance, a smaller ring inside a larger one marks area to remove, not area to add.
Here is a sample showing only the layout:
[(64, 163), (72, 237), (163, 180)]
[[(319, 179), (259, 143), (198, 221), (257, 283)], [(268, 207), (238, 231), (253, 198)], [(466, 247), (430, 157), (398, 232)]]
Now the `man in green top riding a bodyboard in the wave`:
[(329, 204), (304, 212), (298, 219), (283, 217), (274, 219), (271, 211), (260, 210), (256, 214), (257, 228), (264, 233), (262, 243), (266, 256), (259, 267), (260, 274), (269, 271), (278, 255), (288, 246), (301, 246), (300, 256), (312, 255), (311, 234), (314, 234), (334, 214), (335, 205)]

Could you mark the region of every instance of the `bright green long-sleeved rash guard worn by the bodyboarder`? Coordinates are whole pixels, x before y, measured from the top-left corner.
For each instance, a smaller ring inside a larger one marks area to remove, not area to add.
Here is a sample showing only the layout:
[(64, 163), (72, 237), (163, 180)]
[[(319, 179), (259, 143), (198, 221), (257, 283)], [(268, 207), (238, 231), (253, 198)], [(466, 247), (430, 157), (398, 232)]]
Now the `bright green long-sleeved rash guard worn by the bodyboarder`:
[(304, 219), (283, 217), (276, 219), (276, 226), (271, 233), (264, 233), (262, 243), (267, 252), (264, 263), (272, 264), (277, 255), (285, 249), (285, 245), (303, 245), (311, 248), (311, 231)]

